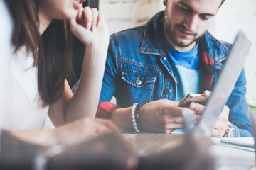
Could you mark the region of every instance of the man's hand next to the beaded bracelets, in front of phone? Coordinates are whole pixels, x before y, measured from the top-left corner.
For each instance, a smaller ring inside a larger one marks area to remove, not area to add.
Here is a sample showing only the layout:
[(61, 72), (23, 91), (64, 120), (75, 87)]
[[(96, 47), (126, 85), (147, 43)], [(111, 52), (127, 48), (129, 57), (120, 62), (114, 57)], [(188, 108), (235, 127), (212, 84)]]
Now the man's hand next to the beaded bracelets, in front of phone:
[[(177, 101), (159, 100), (146, 103), (140, 108), (142, 128), (149, 132), (170, 133), (185, 128), (185, 115), (194, 115), (189, 108), (177, 107)], [(194, 116), (192, 116), (194, 118)]]

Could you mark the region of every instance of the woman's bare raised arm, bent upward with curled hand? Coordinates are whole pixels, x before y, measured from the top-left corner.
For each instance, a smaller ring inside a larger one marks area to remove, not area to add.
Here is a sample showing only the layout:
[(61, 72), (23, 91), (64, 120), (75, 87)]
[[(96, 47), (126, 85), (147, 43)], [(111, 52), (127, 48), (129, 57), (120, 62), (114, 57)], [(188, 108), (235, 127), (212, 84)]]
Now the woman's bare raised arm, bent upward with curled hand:
[(62, 125), (85, 116), (95, 118), (107, 57), (109, 33), (102, 12), (96, 8), (85, 7), (79, 21), (70, 20), (70, 28), (84, 43), (85, 56), (80, 83), (73, 97), (70, 87), (65, 82), (63, 98), (50, 106), (48, 115), (55, 125)]

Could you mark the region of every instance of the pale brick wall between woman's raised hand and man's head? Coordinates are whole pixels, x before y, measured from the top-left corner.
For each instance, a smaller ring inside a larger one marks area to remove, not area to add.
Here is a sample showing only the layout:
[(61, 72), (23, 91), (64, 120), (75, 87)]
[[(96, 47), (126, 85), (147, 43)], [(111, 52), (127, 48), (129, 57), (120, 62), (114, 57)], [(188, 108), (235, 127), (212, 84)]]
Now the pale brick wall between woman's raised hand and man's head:
[(161, 8), (162, 0), (100, 0), (110, 33), (142, 25)]

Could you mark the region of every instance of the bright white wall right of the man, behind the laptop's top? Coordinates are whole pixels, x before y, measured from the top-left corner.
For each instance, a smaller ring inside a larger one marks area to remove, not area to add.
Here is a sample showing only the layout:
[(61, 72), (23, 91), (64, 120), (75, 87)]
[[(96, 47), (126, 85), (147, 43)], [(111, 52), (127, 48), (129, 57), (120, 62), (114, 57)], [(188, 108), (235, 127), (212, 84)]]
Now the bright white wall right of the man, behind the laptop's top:
[(212, 26), (212, 33), (222, 40), (233, 42), (238, 30), (242, 30), (252, 42), (245, 62), (247, 76), (247, 100), (256, 101), (256, 1), (226, 0)]

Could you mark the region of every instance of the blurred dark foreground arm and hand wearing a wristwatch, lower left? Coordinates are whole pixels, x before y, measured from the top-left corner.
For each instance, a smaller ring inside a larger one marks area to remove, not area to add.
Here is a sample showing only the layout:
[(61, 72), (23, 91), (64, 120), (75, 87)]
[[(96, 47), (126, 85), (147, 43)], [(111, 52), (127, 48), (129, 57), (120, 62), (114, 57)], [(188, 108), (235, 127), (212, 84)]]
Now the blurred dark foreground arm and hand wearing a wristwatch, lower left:
[(47, 148), (18, 140), (8, 132), (1, 135), (0, 169), (125, 170), (136, 166), (131, 144), (119, 134), (100, 135), (78, 145)]

